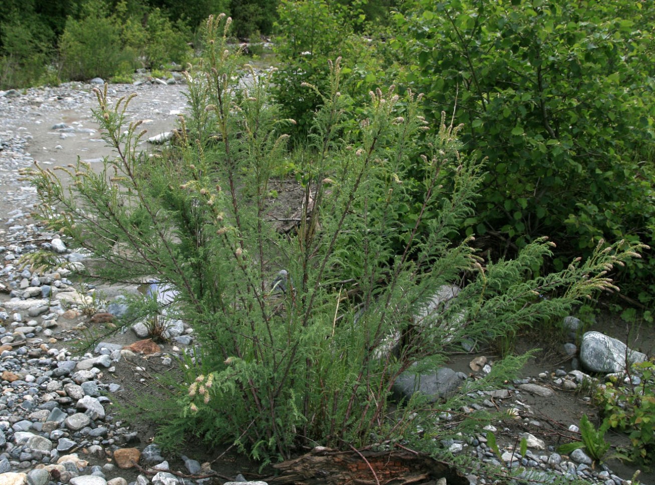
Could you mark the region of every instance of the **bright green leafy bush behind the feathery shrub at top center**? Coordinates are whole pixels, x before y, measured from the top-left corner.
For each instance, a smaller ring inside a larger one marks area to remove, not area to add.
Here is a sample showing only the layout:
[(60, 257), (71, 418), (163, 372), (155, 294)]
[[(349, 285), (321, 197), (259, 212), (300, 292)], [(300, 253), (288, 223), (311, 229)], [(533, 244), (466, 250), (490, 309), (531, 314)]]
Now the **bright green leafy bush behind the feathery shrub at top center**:
[[(384, 39), (381, 27), (369, 36), (362, 5), (348, 9), (325, 0), (283, 0), (278, 7), (274, 51), (280, 63), (274, 73), (274, 96), (286, 116), (297, 121), (295, 134), (301, 137), (310, 128), (314, 111), (322, 99), (316, 91), (301, 88), (303, 82), (327, 89), (330, 59), (342, 56), (341, 89), (354, 103), (363, 103), (369, 92), (392, 84), (398, 67), (398, 53)], [(358, 31), (358, 34), (354, 32)]]

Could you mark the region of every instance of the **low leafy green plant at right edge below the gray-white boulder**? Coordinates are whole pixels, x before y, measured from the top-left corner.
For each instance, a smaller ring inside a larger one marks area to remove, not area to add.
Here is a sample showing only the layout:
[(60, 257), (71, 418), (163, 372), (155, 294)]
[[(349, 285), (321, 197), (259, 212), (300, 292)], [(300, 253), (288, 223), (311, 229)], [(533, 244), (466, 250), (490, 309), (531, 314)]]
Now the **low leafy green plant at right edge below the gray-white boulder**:
[(635, 364), (633, 372), (641, 376), (639, 386), (610, 382), (598, 387), (595, 400), (605, 418), (604, 423), (628, 433), (632, 444), (631, 458), (652, 466), (655, 456), (655, 364)]

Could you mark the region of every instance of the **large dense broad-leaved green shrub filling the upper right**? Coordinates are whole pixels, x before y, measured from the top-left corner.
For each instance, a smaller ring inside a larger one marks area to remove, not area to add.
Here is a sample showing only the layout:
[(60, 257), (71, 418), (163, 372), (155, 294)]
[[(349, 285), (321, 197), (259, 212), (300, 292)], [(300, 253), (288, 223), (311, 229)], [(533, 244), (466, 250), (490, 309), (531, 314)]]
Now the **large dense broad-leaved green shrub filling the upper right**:
[[(489, 158), (466, 235), (511, 254), (550, 234), (559, 267), (600, 238), (655, 241), (652, 0), (402, 7), (393, 43), (415, 60), (407, 81)], [(644, 304), (654, 270), (649, 257), (622, 271)]]

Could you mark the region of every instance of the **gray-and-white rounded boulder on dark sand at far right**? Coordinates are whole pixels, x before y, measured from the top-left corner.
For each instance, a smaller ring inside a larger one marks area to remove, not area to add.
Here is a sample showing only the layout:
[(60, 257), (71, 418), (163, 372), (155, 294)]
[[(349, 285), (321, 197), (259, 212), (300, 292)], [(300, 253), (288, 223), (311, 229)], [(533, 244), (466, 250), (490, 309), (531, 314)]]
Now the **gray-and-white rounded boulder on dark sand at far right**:
[(586, 332), (580, 344), (580, 361), (591, 372), (621, 372), (627, 363), (646, 360), (646, 355), (630, 350), (626, 344), (601, 332)]

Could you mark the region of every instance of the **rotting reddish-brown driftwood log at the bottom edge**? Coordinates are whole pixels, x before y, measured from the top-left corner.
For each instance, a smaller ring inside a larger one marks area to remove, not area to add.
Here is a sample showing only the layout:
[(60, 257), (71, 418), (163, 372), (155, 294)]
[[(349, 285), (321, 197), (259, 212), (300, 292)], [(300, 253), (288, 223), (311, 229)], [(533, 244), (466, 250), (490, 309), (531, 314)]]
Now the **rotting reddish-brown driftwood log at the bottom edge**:
[[(274, 468), (280, 475), (263, 478), (269, 485), (468, 485), (447, 463), (405, 450), (337, 451), (317, 447)], [(445, 480), (444, 480), (445, 478)]]

